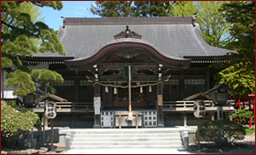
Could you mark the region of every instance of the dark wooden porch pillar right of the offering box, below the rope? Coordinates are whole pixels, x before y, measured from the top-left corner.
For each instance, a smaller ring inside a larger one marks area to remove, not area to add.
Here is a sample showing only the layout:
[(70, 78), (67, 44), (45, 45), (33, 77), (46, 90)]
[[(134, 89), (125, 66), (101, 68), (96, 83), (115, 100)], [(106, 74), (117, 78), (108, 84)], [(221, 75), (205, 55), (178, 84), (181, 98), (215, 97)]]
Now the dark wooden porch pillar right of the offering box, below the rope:
[(162, 112), (162, 84), (157, 85), (157, 127), (163, 128), (163, 112)]

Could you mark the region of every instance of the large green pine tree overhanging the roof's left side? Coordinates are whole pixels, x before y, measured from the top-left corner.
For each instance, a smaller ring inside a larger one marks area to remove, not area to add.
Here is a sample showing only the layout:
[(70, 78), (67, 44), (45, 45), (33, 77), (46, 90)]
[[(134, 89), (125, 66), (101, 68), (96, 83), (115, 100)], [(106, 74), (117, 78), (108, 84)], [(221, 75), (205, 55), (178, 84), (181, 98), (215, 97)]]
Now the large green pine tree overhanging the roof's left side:
[(58, 32), (37, 19), (33, 10), (24, 11), (24, 3), (62, 8), (60, 1), (1, 1), (1, 68), (16, 67), (6, 69), (12, 73), (6, 79), (6, 86), (16, 88), (14, 94), (18, 96), (35, 91), (30, 70), (22, 65), (20, 57), (33, 57), (35, 53), (46, 51), (66, 55)]

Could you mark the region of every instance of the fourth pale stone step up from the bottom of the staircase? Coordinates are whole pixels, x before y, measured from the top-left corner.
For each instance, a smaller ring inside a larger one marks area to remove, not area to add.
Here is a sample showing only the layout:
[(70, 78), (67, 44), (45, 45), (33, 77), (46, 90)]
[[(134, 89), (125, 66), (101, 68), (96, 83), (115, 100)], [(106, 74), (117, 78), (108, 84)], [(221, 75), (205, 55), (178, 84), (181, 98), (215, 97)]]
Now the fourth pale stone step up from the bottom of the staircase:
[(137, 137), (180, 137), (180, 133), (144, 133), (144, 134), (72, 134), (72, 138), (122, 138), (122, 137), (130, 137), (130, 138), (137, 138)]

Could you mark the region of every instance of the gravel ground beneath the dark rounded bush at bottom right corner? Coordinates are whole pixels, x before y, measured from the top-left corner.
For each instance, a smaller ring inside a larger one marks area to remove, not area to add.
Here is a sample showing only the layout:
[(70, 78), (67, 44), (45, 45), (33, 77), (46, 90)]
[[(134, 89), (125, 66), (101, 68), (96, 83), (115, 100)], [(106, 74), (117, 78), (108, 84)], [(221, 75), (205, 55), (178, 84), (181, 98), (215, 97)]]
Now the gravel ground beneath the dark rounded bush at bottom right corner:
[(201, 150), (197, 145), (190, 145), (188, 150), (192, 154), (255, 154), (255, 133), (247, 134), (244, 140), (235, 141), (232, 147), (213, 148), (210, 144), (202, 142)]

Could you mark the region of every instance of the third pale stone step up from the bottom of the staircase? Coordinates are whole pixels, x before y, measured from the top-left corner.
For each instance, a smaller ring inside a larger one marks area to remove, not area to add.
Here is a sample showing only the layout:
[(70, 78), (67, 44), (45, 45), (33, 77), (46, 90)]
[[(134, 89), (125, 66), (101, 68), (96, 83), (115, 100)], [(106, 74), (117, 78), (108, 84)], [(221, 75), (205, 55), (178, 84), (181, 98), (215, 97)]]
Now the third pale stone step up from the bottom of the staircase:
[[(181, 140), (181, 137), (108, 137), (103, 138), (72, 138), (72, 141), (164, 141), (164, 140)], [(139, 136), (139, 135), (138, 135)], [(152, 135), (155, 136), (155, 135)]]

